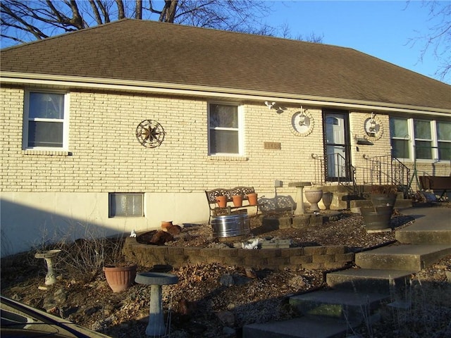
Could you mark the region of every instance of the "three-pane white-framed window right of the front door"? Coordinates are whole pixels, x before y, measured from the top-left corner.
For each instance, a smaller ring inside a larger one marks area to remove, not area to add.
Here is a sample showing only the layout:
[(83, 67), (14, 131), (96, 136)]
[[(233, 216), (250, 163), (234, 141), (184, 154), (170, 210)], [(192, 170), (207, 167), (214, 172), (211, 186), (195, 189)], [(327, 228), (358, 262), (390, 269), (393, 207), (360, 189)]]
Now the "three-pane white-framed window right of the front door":
[(392, 156), (401, 159), (450, 161), (451, 122), (390, 118)]

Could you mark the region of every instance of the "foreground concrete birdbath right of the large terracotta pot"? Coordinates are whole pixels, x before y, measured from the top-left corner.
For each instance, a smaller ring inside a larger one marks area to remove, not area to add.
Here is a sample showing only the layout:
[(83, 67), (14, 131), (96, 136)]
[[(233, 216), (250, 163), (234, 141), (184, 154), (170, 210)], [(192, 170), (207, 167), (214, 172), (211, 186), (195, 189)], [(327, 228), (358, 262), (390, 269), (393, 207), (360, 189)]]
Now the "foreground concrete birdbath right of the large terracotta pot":
[(135, 282), (151, 286), (149, 323), (146, 327), (146, 335), (150, 337), (163, 336), (166, 334), (166, 325), (163, 317), (161, 286), (176, 284), (178, 277), (170, 273), (138, 273)]

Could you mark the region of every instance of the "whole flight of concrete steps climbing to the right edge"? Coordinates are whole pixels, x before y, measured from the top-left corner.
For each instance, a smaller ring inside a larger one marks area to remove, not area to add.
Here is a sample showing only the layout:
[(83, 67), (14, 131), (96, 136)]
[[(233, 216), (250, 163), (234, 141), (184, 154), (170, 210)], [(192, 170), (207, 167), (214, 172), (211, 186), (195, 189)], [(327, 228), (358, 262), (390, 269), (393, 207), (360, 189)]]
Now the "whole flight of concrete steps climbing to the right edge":
[(364, 268), (328, 273), (332, 289), (292, 296), (290, 305), (302, 317), (243, 327), (243, 338), (337, 338), (347, 337), (362, 325), (359, 315), (377, 318), (380, 304), (390, 299), (393, 287), (405, 285), (412, 273), (451, 255), (451, 208), (398, 209), (415, 222), (395, 230), (400, 242), (393, 246), (357, 253), (356, 265)]

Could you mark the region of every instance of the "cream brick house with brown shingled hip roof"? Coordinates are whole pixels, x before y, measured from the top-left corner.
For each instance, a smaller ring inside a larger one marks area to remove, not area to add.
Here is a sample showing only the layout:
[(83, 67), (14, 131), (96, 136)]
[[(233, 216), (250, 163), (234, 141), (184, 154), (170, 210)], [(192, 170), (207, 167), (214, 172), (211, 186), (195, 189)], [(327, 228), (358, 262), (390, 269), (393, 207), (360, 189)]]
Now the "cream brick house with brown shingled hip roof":
[(369, 184), (378, 156), (450, 175), (449, 85), (353, 49), (144, 20), (2, 50), (0, 118), (2, 256), (205, 221), (206, 189)]

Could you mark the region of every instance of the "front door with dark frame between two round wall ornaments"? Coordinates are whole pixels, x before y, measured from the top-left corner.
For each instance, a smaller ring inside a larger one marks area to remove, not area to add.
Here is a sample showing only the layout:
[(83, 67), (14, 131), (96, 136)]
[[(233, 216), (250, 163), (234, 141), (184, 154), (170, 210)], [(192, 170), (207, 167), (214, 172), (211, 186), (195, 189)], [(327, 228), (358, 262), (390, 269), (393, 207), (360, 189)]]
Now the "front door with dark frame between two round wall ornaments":
[(324, 150), (326, 153), (326, 181), (350, 179), (348, 144), (348, 115), (335, 111), (324, 113)]

